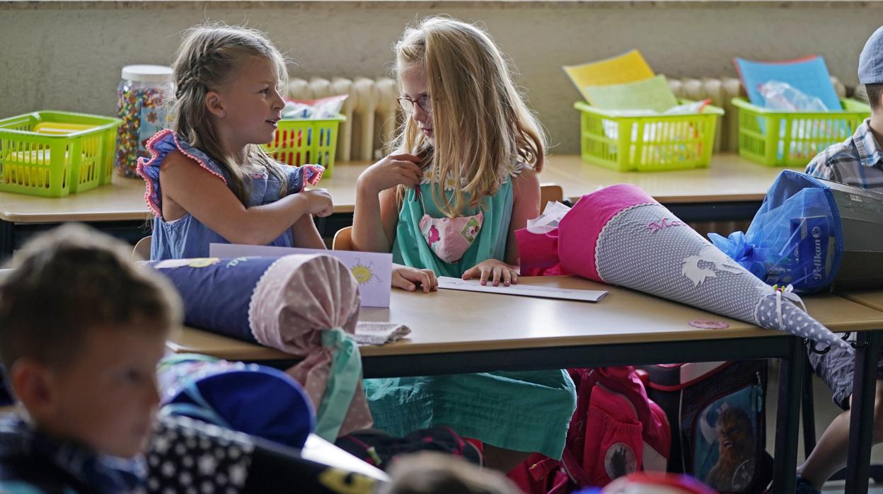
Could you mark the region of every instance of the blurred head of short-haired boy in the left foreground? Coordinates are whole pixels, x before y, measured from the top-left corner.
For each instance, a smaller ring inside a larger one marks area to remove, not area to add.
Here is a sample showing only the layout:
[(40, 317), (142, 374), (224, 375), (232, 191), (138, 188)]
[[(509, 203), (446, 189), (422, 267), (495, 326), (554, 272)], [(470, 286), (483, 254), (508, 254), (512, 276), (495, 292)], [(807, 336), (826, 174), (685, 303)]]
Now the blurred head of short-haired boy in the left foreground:
[(151, 430), (155, 367), (180, 323), (174, 288), (85, 226), (29, 242), (0, 279), (0, 363), (34, 425), (130, 457)]

